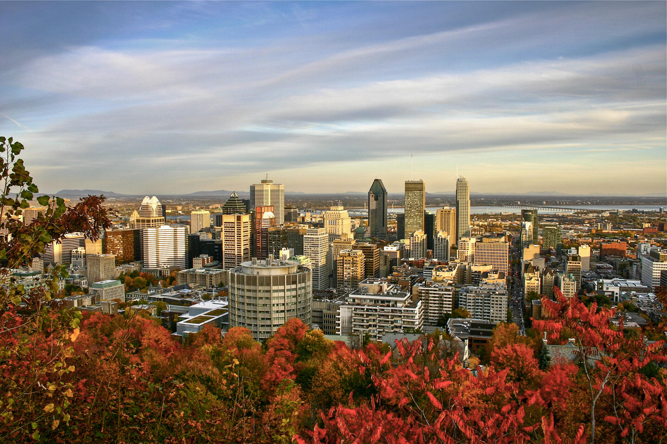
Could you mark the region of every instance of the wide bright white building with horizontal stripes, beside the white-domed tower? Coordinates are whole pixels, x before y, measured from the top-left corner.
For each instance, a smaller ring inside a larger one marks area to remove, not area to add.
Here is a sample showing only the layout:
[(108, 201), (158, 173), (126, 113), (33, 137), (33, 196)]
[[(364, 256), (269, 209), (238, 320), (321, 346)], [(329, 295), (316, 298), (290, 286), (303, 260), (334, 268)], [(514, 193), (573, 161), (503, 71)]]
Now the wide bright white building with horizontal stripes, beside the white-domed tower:
[(144, 228), (141, 234), (144, 268), (189, 268), (187, 227), (163, 225)]

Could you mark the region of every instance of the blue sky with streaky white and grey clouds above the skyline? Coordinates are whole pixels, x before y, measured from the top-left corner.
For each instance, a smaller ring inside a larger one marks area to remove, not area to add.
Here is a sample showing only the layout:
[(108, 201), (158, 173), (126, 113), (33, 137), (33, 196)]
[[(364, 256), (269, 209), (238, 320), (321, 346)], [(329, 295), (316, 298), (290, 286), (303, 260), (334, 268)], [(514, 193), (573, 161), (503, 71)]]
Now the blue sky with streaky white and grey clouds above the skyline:
[(3, 1), (0, 135), (43, 192), (664, 195), (666, 5)]

